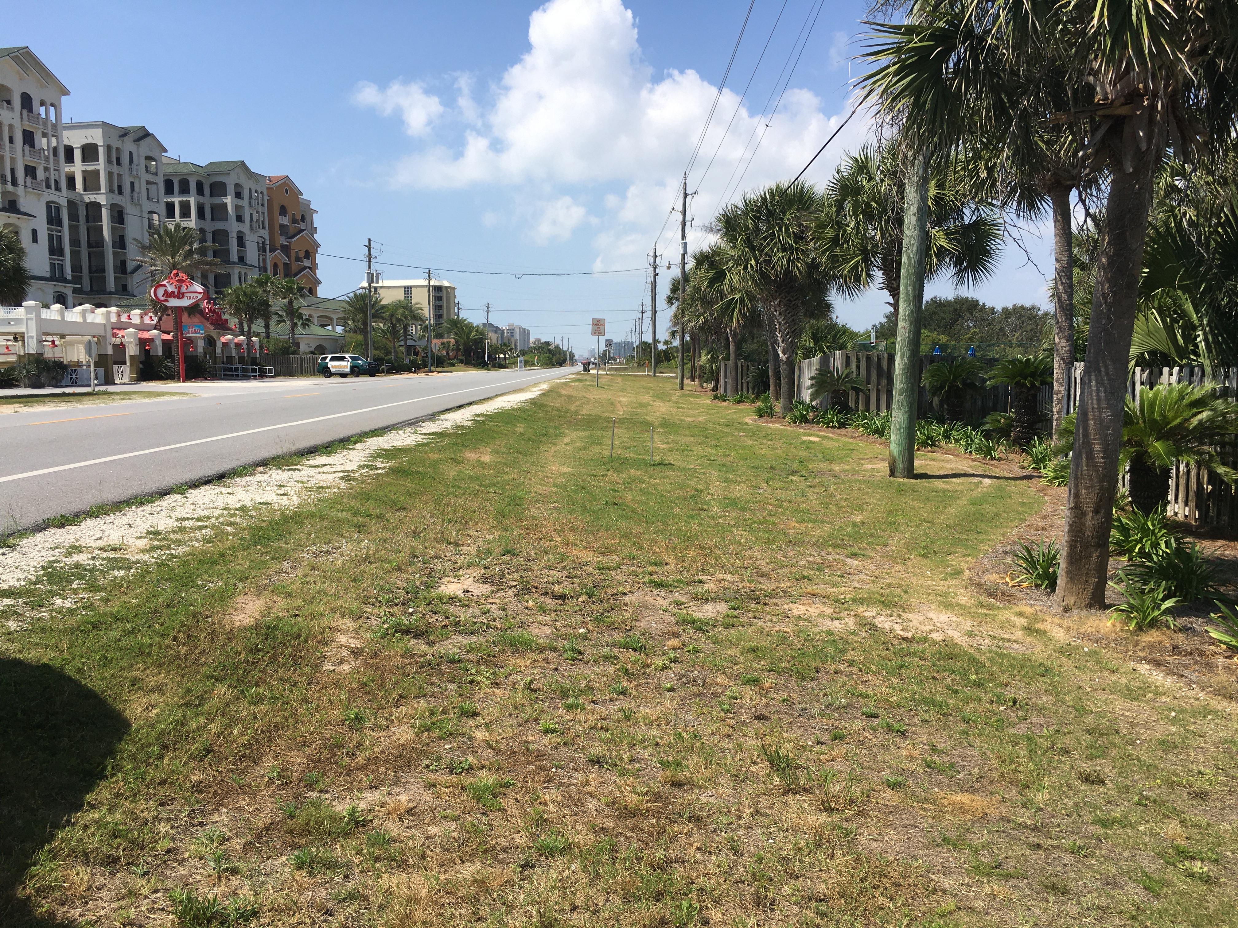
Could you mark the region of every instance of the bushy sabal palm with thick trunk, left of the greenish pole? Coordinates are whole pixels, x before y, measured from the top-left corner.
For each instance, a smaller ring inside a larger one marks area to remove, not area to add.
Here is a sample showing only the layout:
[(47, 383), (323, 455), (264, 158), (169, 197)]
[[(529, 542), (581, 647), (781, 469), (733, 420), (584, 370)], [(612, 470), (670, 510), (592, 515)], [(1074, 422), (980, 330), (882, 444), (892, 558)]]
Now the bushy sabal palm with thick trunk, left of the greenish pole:
[(796, 346), (805, 318), (829, 304), (841, 276), (818, 247), (822, 198), (805, 183), (775, 183), (718, 214), (727, 291), (745, 293), (769, 319), (782, 369), (781, 413), (791, 412)]

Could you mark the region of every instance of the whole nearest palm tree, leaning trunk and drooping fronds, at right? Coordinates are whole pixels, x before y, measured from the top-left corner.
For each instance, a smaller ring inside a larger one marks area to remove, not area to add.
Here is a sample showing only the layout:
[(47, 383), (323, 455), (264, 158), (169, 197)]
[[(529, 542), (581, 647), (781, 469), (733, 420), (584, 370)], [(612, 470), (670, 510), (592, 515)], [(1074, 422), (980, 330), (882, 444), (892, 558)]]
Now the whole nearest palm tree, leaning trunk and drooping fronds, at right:
[[(958, 25), (942, 11), (962, 10)], [(885, 63), (869, 87), (927, 148), (1009, 145), (1035, 121), (1084, 125), (1086, 167), (1108, 174), (1104, 224), (1071, 455), (1058, 603), (1104, 605), (1122, 455), (1128, 359), (1156, 172), (1170, 145), (1217, 157), (1238, 122), (1234, 0), (920, 0), (909, 22), (878, 25)], [(1071, 106), (1050, 111), (1041, 75)], [(1028, 88), (1011, 98), (1008, 88)], [(1016, 162), (1015, 162), (1016, 163)]]

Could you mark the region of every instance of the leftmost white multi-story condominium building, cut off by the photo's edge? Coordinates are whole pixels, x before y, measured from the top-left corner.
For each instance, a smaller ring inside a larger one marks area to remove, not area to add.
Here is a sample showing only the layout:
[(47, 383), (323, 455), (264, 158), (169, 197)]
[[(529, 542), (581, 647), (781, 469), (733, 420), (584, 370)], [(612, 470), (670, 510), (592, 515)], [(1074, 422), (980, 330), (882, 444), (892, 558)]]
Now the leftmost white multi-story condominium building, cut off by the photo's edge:
[(26, 298), (72, 307), (61, 163), (61, 99), (68, 95), (30, 48), (0, 48), (0, 226), (26, 246)]

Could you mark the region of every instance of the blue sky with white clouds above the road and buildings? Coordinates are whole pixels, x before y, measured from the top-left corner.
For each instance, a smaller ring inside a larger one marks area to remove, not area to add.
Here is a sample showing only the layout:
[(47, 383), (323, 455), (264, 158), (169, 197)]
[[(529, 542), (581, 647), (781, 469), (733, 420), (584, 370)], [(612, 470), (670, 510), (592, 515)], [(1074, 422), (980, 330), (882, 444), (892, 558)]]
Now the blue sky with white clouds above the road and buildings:
[[(380, 261), (413, 266), (380, 265), (387, 278), (421, 277), (416, 269), (428, 265), (457, 286), (468, 318), (480, 320), (489, 302), (491, 322), (581, 346), (594, 316), (623, 337), (649, 298), (644, 271), (467, 271), (641, 269), (660, 230), (659, 251), (675, 259), (677, 219), (667, 223), (667, 210), (748, 4), (57, 9), (53, 33), (21, 35), (17, 20), (11, 41), (30, 45), (69, 88), (66, 116), (145, 124), (173, 157), (244, 158), (261, 173), (291, 174), (318, 209), (323, 296), (360, 283), (364, 265), (345, 259), (361, 257), (370, 236)], [(848, 80), (863, 67), (849, 57), (864, 9), (756, 0), (690, 173), (690, 191), (699, 191), (690, 247), (719, 203), (794, 176), (846, 115)], [(823, 181), (865, 132), (853, 120), (806, 177)], [(972, 292), (998, 306), (1045, 304), (1051, 241), (1034, 231), (1024, 245), (1034, 264), (1008, 246), (999, 272)], [(951, 292), (950, 282), (928, 286)], [(837, 309), (868, 325), (884, 304), (869, 293)]]

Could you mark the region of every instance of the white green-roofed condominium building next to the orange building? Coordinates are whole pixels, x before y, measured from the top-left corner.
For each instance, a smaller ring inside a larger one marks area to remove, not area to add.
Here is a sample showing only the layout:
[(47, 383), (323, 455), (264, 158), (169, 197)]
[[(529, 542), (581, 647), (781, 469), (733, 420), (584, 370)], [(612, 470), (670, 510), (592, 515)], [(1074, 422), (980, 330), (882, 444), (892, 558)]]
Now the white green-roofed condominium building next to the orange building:
[(266, 176), (244, 161), (196, 165), (163, 156), (163, 221), (191, 225), (220, 262), (201, 281), (219, 291), (267, 269)]

